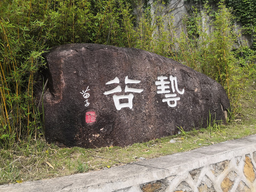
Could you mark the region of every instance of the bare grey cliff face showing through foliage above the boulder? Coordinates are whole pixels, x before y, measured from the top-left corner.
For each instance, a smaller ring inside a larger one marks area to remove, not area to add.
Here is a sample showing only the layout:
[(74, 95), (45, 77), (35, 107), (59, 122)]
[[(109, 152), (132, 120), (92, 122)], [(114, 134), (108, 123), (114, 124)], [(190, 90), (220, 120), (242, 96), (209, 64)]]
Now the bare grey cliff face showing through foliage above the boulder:
[[(189, 1), (186, 0), (170, 0), (167, 1), (163, 6), (163, 10), (159, 11), (157, 10), (157, 5), (155, 4), (155, 0), (149, 0), (149, 1), (144, 1), (142, 0), (137, 8), (135, 9), (135, 14), (137, 14), (138, 20), (141, 18), (141, 5), (147, 4), (147, 6), (150, 6), (150, 11), (151, 14), (154, 15), (154, 13), (157, 12), (157, 14), (162, 15), (162, 16), (172, 16), (173, 17), (173, 26), (175, 27), (175, 33), (177, 34), (178, 37), (180, 37), (181, 31), (186, 32), (186, 26), (182, 22), (182, 19), (187, 17), (190, 18), (191, 15), (189, 14), (189, 11), (193, 10), (193, 6), (197, 7), (198, 12), (202, 15), (202, 28), (204, 31), (207, 31), (208, 34), (213, 30), (213, 23), (210, 20), (210, 16), (207, 15), (205, 9), (203, 8), (203, 5), (194, 5), (193, 3), (189, 3)], [(213, 9), (217, 9), (217, 5), (212, 5)], [(169, 23), (166, 22), (165, 25), (167, 26)], [(239, 23), (235, 22), (234, 23), (234, 31), (237, 34), (237, 42), (234, 46), (239, 46), (242, 44), (247, 44), (249, 47), (252, 47), (252, 42), (253, 42), (253, 36), (249, 34), (242, 34), (242, 26), (239, 25)]]

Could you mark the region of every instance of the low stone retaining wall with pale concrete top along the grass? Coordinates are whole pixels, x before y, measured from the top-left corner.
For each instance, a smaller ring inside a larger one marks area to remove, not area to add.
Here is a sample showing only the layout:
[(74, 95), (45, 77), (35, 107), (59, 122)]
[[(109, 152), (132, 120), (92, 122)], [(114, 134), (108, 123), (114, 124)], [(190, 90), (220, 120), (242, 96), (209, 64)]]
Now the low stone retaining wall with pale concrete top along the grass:
[[(245, 183), (244, 186), (251, 191), (256, 191), (253, 190), (256, 189), (256, 179), (247, 181), (250, 178), (245, 173), (247, 156), (251, 159), (255, 173), (255, 151), (256, 135), (251, 135), (243, 139), (225, 141), (185, 153), (148, 159), (107, 170), (2, 185), (0, 191), (154, 191), (147, 190), (146, 187), (150, 186), (155, 188), (158, 186), (158, 190), (155, 191), (175, 191), (183, 185), (180, 191), (187, 187), (190, 191), (197, 192), (202, 191), (199, 188), (204, 182), (206, 183), (207, 178), (212, 183), (211, 186), (207, 185), (207, 188), (212, 187), (215, 191), (223, 191), (222, 183), (229, 177), (230, 172), (234, 172), (236, 177), (234, 181), (229, 179), (233, 183), (231, 188), (229, 186), (229, 191), (235, 191), (239, 186), (241, 187), (241, 182)], [(225, 161), (227, 166), (223, 167), (223, 163), (218, 164)], [(217, 171), (212, 167), (218, 165), (222, 166), (223, 170), (221, 167), (216, 169), (221, 170), (217, 175)], [(193, 170), (200, 172), (196, 179), (191, 177)]]

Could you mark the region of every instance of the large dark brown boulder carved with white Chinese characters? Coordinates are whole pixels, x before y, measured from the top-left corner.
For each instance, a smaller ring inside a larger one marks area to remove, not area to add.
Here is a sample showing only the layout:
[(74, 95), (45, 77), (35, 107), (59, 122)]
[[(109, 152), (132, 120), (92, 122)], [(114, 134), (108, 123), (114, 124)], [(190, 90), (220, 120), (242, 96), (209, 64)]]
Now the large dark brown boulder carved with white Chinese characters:
[(45, 137), (66, 146), (126, 146), (225, 123), (223, 87), (138, 49), (68, 44), (45, 55)]

